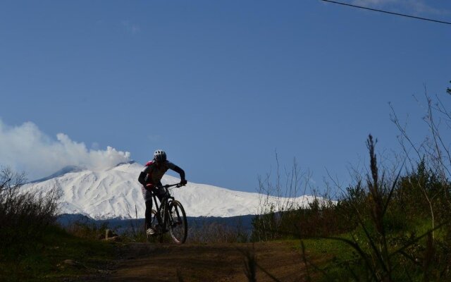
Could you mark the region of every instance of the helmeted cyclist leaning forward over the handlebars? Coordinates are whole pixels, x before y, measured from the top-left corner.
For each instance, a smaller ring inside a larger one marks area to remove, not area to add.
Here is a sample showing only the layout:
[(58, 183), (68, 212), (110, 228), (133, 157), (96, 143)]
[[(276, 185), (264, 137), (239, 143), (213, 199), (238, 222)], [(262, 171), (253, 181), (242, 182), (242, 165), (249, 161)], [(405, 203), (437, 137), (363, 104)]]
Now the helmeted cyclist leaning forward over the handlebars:
[(152, 235), (156, 232), (151, 226), (153, 202), (152, 193), (154, 193), (161, 202), (163, 195), (166, 192), (161, 184), (161, 178), (163, 178), (164, 173), (166, 173), (169, 168), (180, 174), (180, 185), (186, 185), (187, 180), (185, 179), (185, 171), (171, 163), (171, 161), (168, 161), (166, 159), (166, 152), (162, 149), (157, 149), (154, 152), (154, 159), (147, 162), (144, 170), (141, 171), (140, 176), (138, 177), (138, 181), (142, 184), (142, 197), (144, 197), (144, 202), (146, 202), (145, 220), (146, 226), (148, 227), (146, 231), (148, 235)]

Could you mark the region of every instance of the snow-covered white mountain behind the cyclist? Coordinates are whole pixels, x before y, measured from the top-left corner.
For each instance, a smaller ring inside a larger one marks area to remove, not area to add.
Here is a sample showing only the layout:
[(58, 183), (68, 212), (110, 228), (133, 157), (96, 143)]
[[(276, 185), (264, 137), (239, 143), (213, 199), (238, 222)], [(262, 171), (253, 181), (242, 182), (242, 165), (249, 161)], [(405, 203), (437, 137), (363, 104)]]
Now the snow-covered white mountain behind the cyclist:
[[(143, 166), (135, 162), (119, 164), (103, 171), (89, 171), (75, 166), (63, 168), (53, 175), (33, 181), (23, 187), (25, 191), (46, 192), (57, 187), (61, 190), (61, 212), (85, 214), (93, 219), (144, 217), (144, 200), (137, 177)], [(163, 184), (178, 183), (179, 178), (165, 175)], [(188, 183), (174, 188), (171, 194), (182, 202), (187, 216), (239, 216), (258, 214), (261, 196), (212, 185)], [(273, 199), (274, 201), (276, 198)], [(295, 199), (307, 204), (311, 196)]]

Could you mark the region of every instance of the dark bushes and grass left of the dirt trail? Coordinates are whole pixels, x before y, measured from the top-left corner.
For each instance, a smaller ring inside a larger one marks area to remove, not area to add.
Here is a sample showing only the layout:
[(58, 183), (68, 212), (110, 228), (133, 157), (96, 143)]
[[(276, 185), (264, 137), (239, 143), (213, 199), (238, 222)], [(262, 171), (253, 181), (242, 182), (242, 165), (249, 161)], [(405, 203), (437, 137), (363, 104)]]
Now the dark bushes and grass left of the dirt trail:
[(25, 192), (25, 183), (24, 173), (0, 169), (0, 281), (61, 281), (91, 272), (97, 275), (94, 266), (106, 265), (111, 246), (75, 237), (56, 225), (58, 187), (45, 194)]

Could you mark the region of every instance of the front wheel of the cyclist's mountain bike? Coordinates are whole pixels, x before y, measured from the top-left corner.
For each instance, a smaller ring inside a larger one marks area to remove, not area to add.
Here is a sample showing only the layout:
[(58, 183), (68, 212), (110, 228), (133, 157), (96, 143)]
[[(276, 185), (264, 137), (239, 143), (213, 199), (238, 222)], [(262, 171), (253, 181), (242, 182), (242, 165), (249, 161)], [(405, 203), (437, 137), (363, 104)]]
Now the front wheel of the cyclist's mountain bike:
[(169, 233), (176, 244), (185, 243), (188, 235), (188, 223), (185, 209), (178, 201), (172, 201), (169, 206)]

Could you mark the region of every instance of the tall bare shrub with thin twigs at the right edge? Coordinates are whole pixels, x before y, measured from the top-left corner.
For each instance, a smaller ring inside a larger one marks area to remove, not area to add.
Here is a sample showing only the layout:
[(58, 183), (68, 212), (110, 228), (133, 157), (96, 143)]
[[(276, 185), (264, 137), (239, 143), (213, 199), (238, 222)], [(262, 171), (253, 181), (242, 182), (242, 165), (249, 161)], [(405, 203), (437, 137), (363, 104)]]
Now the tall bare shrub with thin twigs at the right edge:
[[(449, 93), (449, 88), (447, 89)], [(448, 133), (451, 130), (451, 111), (438, 95), (431, 97), (426, 87), (424, 87), (425, 102), (416, 99), (424, 109), (423, 121), (428, 128), (428, 135), (421, 142), (415, 140), (409, 135), (407, 124), (403, 124), (398, 118), (395, 109), (392, 106), (391, 120), (400, 131), (398, 141), (408, 161), (409, 174), (412, 176), (410, 186), (412, 190), (419, 190), (424, 202), (428, 206), (428, 214), (431, 220), (432, 228), (435, 228), (436, 222), (451, 216), (451, 187), (449, 179), (451, 177), (451, 145)], [(447, 101), (449, 103), (449, 101)], [(415, 175), (416, 168), (422, 166), (422, 171), (428, 175), (433, 175), (433, 189), (426, 189), (426, 181), (422, 175)], [(417, 176), (417, 177), (416, 177)], [(406, 183), (407, 184), (407, 183)], [(416, 188), (416, 189), (414, 189)], [(448, 233), (451, 234), (451, 226), (447, 226)], [(433, 239), (435, 233), (432, 234)], [(451, 235), (450, 235), (451, 236)]]

